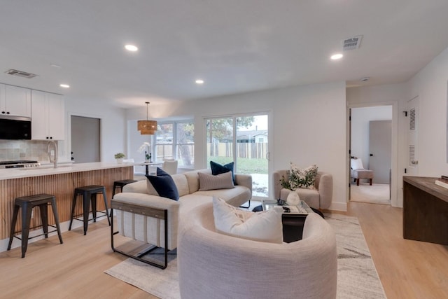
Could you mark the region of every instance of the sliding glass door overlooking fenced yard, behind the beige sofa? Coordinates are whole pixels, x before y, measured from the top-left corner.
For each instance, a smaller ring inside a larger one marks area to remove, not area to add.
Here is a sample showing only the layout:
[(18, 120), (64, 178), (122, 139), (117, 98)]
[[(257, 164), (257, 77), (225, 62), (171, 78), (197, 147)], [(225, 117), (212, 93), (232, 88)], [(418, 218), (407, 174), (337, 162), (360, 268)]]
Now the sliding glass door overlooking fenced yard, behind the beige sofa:
[(207, 118), (205, 125), (207, 165), (235, 162), (236, 173), (252, 175), (253, 197), (268, 197), (267, 114)]

